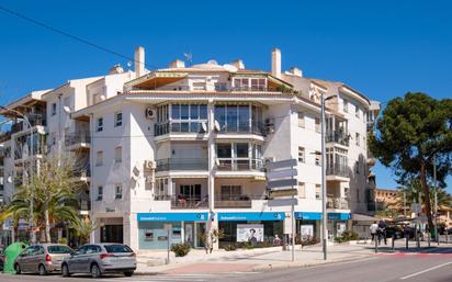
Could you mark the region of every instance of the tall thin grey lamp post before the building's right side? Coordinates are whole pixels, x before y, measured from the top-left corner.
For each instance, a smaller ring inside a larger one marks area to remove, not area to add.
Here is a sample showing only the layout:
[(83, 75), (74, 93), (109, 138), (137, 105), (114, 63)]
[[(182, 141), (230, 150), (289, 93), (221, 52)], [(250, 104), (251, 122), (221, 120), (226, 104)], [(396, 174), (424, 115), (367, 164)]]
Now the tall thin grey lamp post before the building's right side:
[(326, 183), (326, 171), (325, 171), (325, 95), (324, 92), (320, 94), (321, 102), (321, 113), (320, 113), (320, 125), (321, 125), (321, 241), (324, 249), (324, 260), (327, 260), (327, 240), (328, 240), (328, 215), (327, 215), (327, 183)]

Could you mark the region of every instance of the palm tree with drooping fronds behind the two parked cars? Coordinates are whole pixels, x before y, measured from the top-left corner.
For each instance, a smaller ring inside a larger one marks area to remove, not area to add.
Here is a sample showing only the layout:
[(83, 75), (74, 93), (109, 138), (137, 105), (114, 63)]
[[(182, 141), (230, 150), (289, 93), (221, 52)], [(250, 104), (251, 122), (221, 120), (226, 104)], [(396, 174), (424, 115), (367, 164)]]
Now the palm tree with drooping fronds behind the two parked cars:
[(52, 224), (74, 222), (78, 217), (72, 163), (71, 159), (50, 156), (42, 159), (33, 178), (18, 188), (0, 222), (8, 217), (30, 219), (30, 203), (33, 201), (33, 225), (44, 230), (42, 241), (50, 241)]

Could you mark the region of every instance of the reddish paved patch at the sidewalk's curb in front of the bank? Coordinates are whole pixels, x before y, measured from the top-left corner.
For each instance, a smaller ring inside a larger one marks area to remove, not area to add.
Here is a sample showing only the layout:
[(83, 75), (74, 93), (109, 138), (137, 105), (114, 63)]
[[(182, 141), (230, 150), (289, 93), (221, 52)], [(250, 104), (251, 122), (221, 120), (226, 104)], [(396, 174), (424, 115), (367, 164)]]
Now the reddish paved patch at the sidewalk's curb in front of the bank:
[(192, 263), (162, 271), (165, 274), (219, 274), (235, 272), (253, 272), (253, 263)]

